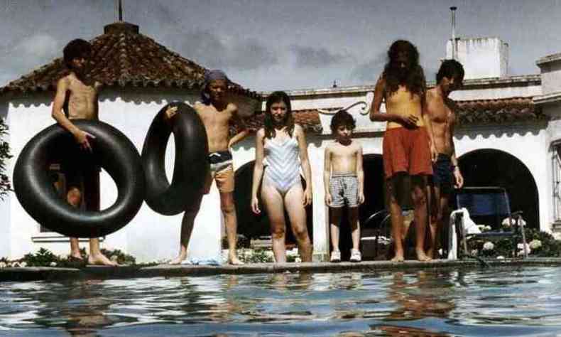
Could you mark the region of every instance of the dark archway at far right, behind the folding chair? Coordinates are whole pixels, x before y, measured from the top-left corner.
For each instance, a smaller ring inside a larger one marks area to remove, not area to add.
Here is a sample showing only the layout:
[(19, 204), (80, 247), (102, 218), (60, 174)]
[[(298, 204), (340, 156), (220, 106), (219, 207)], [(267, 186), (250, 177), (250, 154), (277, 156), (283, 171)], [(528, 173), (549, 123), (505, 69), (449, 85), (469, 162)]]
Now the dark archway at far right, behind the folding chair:
[(496, 149), (478, 149), (458, 159), (464, 186), (506, 188), (511, 210), (522, 210), (528, 228), (540, 228), (538, 187), (528, 167), (515, 156)]

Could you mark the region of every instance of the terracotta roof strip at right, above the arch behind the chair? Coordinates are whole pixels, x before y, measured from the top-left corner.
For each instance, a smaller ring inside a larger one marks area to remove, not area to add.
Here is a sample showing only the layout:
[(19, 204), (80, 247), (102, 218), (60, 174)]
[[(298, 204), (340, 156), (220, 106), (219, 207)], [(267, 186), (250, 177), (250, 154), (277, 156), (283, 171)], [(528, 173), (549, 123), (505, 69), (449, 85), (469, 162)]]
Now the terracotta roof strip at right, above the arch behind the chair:
[(498, 124), (548, 120), (532, 97), (455, 101), (459, 124)]

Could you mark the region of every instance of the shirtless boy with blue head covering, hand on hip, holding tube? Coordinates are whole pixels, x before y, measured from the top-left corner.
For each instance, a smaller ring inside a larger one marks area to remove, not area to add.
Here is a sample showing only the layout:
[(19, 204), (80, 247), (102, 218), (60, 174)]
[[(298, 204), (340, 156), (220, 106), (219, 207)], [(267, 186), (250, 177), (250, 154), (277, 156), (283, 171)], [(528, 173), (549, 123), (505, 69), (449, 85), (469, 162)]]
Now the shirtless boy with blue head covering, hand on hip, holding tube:
[[(228, 77), (221, 70), (210, 70), (205, 74), (205, 85), (202, 88), (202, 102), (195, 102), (193, 108), (202, 119), (207, 131), (210, 172), (207, 176), (205, 191), (208, 194), (212, 181), (216, 181), (220, 192), (220, 208), (226, 223), (228, 237), (228, 262), (242, 264), (236, 255), (237, 221), (234, 203), (234, 167), (230, 148), (249, 134), (246, 125), (238, 115), (238, 109), (232, 102), (227, 102), (226, 91)], [(166, 111), (166, 117), (172, 118), (177, 113), (176, 107)], [(229, 137), (229, 124), (236, 123), (241, 132)], [(190, 210), (185, 210), (181, 223), (179, 256), (170, 264), (179, 264), (187, 257), (187, 245), (191, 237), (195, 217), (199, 212), (201, 198)]]

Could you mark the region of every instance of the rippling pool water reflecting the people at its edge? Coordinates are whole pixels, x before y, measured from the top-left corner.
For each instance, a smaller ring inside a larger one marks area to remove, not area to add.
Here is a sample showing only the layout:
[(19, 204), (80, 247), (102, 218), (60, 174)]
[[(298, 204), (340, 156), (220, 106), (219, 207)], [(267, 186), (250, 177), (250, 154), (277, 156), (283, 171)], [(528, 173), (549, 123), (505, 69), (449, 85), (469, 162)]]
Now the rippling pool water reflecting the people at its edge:
[(556, 336), (561, 269), (0, 283), (0, 336)]

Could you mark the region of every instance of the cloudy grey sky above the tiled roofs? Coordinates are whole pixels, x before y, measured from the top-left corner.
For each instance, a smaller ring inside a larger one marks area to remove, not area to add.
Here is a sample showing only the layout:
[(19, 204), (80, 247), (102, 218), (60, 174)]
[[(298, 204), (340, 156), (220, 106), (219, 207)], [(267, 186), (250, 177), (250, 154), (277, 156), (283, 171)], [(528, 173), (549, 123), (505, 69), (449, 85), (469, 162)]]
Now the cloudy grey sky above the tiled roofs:
[[(115, 0), (0, 0), (0, 86), (116, 21)], [(122, 0), (124, 21), (256, 91), (373, 84), (397, 39), (417, 46), (432, 80), (451, 36), (502, 38), (509, 73), (539, 73), (561, 52), (561, 0)]]

